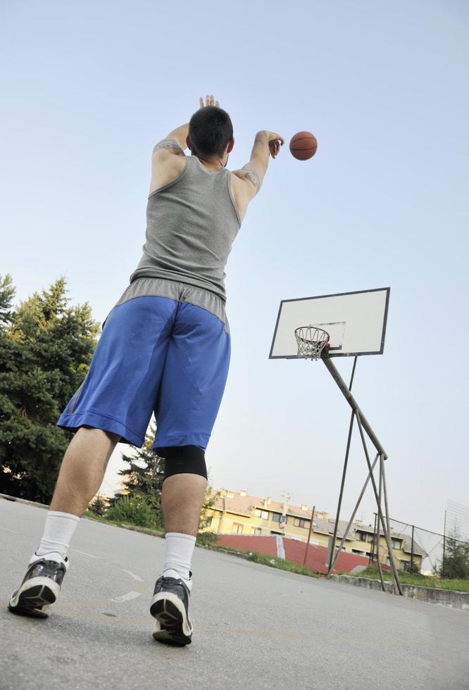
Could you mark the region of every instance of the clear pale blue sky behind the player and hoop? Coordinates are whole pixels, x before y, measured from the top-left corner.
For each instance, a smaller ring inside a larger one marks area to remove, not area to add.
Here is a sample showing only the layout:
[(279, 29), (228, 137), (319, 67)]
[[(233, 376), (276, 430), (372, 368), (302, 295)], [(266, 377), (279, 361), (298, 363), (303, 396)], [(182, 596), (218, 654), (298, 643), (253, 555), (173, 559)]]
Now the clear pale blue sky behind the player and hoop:
[[(441, 531), (469, 485), (468, 20), (463, 0), (2, 3), (0, 272), (18, 299), (65, 274), (103, 320), (139, 261), (151, 149), (200, 95), (232, 116), (232, 169), (257, 130), (314, 132), (311, 161), (271, 163), (227, 266), (211, 479), (334, 515), (349, 408), (321, 363), (268, 360), (275, 318), (281, 299), (389, 285), (384, 355), (354, 392), (390, 515)], [(362, 506), (371, 521), (370, 490)]]

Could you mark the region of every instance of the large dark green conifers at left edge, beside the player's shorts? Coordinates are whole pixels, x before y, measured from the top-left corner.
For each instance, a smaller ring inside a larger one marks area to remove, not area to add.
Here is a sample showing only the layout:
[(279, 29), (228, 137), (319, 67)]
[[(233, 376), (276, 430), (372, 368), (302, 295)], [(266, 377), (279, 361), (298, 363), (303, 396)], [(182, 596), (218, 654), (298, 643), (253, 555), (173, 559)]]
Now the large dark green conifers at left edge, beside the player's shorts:
[(65, 277), (11, 311), (0, 281), (0, 492), (50, 503), (70, 432), (56, 422), (85, 378), (99, 333), (88, 303), (69, 307)]

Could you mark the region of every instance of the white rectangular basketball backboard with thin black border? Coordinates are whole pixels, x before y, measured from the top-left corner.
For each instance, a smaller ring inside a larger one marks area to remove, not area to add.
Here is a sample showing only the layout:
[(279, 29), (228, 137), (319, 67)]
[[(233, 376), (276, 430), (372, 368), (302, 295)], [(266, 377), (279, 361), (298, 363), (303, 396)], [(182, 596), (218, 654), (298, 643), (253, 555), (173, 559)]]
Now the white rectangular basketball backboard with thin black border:
[(381, 355), (384, 351), (389, 287), (280, 302), (270, 359), (296, 359), (299, 326), (330, 334), (329, 357)]

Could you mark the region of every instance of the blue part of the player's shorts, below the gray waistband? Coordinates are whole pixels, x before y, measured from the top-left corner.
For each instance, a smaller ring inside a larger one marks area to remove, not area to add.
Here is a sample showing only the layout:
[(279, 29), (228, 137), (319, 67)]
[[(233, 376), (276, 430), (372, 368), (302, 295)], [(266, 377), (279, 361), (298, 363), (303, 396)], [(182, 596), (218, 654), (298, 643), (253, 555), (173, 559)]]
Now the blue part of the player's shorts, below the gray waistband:
[(189, 302), (141, 296), (115, 306), (92, 363), (57, 422), (103, 429), (139, 448), (152, 413), (154, 450), (206, 449), (230, 366), (230, 334)]

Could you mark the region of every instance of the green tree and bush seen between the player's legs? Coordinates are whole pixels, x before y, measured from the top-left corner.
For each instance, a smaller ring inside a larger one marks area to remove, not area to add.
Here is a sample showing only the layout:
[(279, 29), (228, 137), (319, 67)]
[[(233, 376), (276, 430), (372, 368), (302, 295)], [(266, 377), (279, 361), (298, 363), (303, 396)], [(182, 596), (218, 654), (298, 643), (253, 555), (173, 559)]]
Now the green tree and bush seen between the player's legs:
[(164, 529), (161, 511), (161, 490), (163, 489), (164, 458), (152, 450), (156, 434), (156, 425), (151, 424), (146, 433), (142, 448), (131, 446), (135, 453), (122, 453), (122, 458), (129, 468), (118, 474), (125, 478), (128, 496), (144, 498), (154, 512), (155, 529)]

